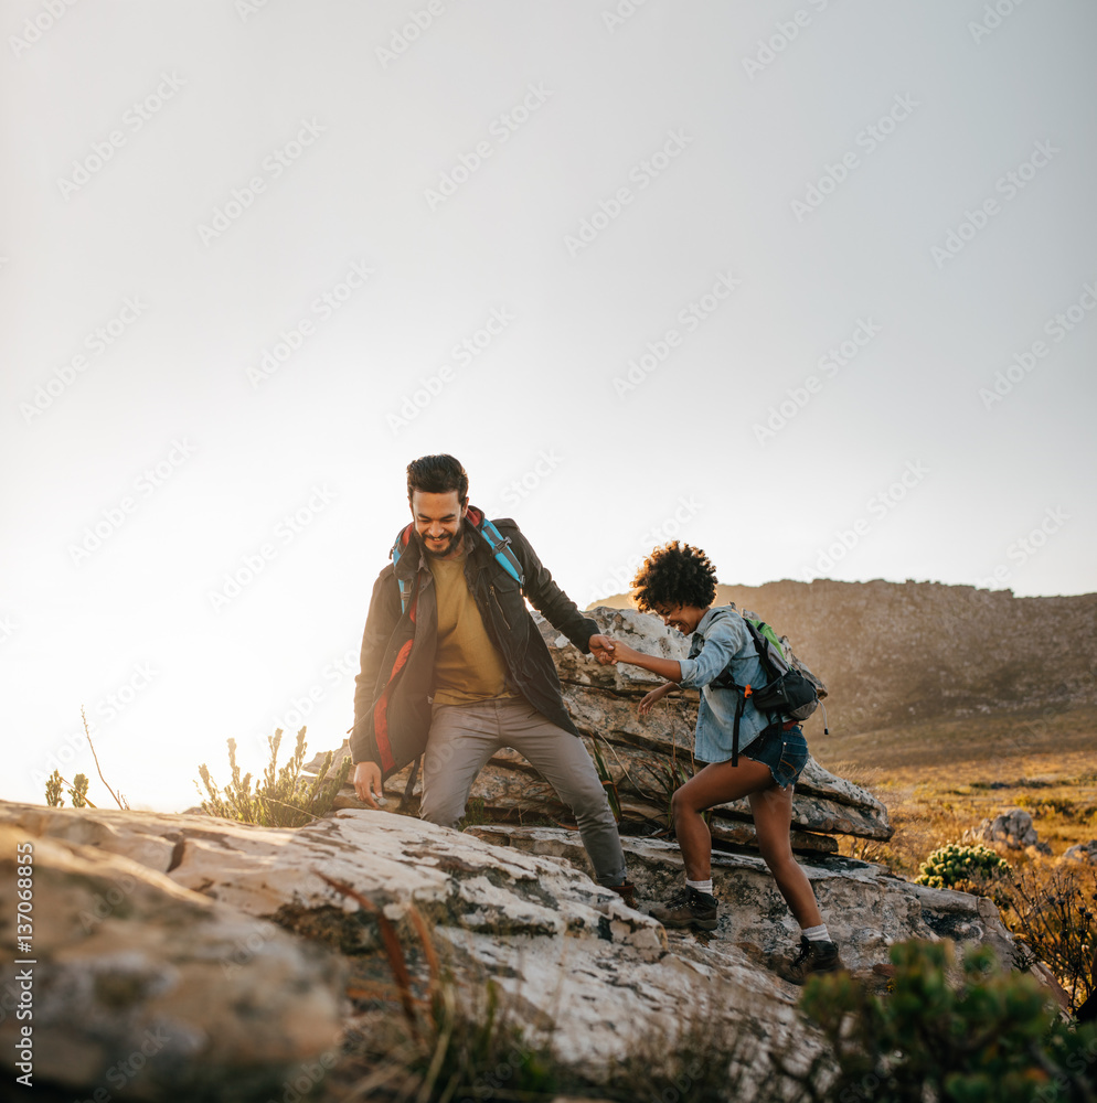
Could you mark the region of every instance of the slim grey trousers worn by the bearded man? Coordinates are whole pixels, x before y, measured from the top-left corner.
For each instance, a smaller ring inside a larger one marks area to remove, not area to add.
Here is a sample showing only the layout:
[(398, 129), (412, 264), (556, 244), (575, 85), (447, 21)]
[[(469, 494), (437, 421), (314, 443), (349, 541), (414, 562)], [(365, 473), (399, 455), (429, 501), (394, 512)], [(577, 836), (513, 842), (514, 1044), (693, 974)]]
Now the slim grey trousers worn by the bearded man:
[(420, 818), (456, 826), (476, 775), (503, 747), (528, 758), (571, 807), (599, 882), (620, 885), (625, 854), (590, 756), (582, 740), (546, 720), (522, 697), (434, 706), (423, 754)]

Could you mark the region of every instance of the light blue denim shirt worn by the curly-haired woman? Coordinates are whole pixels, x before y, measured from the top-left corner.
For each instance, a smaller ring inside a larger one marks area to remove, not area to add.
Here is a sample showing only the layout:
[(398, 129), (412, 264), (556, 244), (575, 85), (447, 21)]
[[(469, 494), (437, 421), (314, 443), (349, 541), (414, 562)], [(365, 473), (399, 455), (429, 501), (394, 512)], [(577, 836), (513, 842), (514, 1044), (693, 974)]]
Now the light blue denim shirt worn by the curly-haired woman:
[[(690, 641), (688, 658), (681, 660), (683, 688), (700, 688), (697, 730), (693, 753), (702, 762), (726, 762), (732, 757), (732, 732), (739, 695), (734, 689), (713, 688), (713, 678), (731, 662), (731, 675), (737, 685), (763, 686), (763, 670), (746, 622), (731, 606), (713, 606), (701, 618)], [(743, 751), (769, 722), (750, 698), (739, 719), (739, 751)]]

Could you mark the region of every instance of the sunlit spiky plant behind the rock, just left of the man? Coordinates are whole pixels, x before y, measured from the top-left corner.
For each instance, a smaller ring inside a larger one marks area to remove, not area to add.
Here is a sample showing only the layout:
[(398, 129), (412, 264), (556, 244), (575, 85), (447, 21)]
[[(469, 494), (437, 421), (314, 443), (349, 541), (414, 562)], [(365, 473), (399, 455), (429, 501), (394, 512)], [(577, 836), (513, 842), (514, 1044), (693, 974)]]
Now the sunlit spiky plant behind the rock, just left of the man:
[[(252, 791), (252, 775), (239, 775), (236, 762), (236, 740), (228, 740), (228, 765), (232, 780), (219, 792), (210, 769), (203, 762), (199, 774), (205, 784), (209, 797), (202, 801), (202, 810), (211, 816), (238, 820), (246, 824), (262, 824), (265, 827), (303, 827), (331, 811), (343, 782), (351, 769), (350, 756), (343, 759), (339, 771), (328, 778), (332, 753), (328, 751), (320, 763), (317, 775), (309, 780), (301, 777), (305, 764), (305, 728), (297, 732), (297, 747), (290, 760), (278, 769), (278, 747), (281, 745), (281, 728), (267, 738), (270, 747), (270, 762), (263, 775), (262, 786)], [(327, 780), (326, 780), (327, 779)], [(194, 783), (198, 788), (198, 782)], [(202, 790), (199, 789), (201, 794)]]

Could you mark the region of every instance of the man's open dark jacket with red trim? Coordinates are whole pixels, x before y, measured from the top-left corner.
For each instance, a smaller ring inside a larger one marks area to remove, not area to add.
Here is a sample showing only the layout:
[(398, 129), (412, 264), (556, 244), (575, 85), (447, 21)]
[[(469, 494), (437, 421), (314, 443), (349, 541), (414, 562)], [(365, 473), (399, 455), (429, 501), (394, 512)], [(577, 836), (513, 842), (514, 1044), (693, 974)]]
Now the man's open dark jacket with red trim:
[[(462, 535), (468, 557), (465, 578), (488, 635), (507, 666), (508, 687), (520, 693), (542, 716), (578, 735), (564, 707), (560, 677), (548, 647), (523, 600), (564, 633), (581, 651), (589, 650), (598, 625), (553, 581), (530, 542), (510, 520), (497, 521), (522, 565), (524, 588), (496, 561), (487, 542), (468, 522)], [(397, 577), (413, 581), (406, 612), (401, 612)], [(374, 761), (387, 777), (422, 754), (430, 731), (430, 696), (438, 639), (434, 576), (423, 542), (412, 531), (407, 550), (388, 564), (373, 583), (362, 636), (362, 668), (354, 678), (355, 762)]]

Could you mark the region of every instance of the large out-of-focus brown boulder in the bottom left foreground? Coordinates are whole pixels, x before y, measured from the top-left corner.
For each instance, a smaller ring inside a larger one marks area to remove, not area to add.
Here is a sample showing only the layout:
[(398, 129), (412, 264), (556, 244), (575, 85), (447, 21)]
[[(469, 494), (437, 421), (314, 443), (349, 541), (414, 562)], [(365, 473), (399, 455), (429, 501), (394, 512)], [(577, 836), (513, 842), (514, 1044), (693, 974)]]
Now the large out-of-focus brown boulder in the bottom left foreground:
[[(64, 837), (99, 833), (79, 813), (54, 813), (65, 828), (54, 837), (35, 829), (52, 817), (19, 813), (6, 806), (0, 823), (7, 1077), (30, 1071), (24, 1084), (81, 1097), (230, 1100), (280, 1090), (301, 1064), (333, 1057), (344, 1003), (337, 956), (150, 868), (172, 850), (151, 832), (116, 831), (127, 842), (111, 852)], [(33, 859), (18, 866), (32, 882), (18, 928), (17, 847)], [(17, 1041), (28, 1028), (23, 1062)]]

